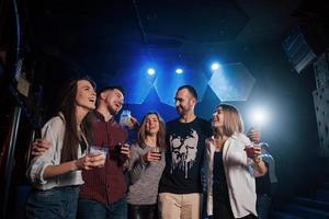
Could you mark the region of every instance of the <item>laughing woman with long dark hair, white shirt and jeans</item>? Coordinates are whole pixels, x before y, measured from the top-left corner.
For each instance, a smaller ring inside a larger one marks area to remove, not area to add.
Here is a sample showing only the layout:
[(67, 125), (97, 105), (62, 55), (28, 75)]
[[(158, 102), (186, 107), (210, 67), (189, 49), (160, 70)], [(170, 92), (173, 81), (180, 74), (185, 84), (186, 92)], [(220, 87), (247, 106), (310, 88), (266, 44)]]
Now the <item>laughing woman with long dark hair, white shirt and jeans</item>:
[(86, 115), (95, 107), (94, 83), (82, 78), (70, 81), (60, 95), (59, 113), (42, 129), (52, 142), (47, 151), (34, 157), (27, 170), (33, 185), (26, 201), (27, 218), (76, 218), (81, 170), (105, 162), (101, 154), (87, 154), (92, 142)]

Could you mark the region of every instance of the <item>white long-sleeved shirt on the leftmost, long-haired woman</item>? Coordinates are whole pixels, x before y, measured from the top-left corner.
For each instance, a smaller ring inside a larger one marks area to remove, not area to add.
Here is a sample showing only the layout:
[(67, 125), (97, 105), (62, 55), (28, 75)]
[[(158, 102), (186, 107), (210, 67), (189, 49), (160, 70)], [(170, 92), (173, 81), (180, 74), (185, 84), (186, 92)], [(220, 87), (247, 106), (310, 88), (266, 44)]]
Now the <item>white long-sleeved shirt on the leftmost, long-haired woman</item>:
[[(32, 159), (27, 170), (27, 177), (33, 187), (46, 191), (54, 187), (81, 185), (83, 184), (81, 171), (73, 171), (50, 178), (43, 178), (45, 169), (48, 165), (57, 165), (60, 163), (61, 148), (65, 135), (65, 119), (63, 115), (50, 118), (42, 129), (44, 140), (52, 142), (52, 147), (42, 155)], [(78, 158), (81, 158), (81, 147), (78, 147)]]

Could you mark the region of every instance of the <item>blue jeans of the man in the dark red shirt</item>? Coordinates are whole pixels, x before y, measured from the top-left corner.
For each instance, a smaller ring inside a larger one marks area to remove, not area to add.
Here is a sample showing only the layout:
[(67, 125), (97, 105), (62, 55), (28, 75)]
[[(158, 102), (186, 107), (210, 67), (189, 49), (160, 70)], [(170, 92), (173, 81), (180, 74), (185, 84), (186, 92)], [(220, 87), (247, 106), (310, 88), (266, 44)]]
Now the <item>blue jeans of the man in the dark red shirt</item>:
[(105, 205), (90, 199), (79, 199), (79, 219), (127, 219), (126, 197), (114, 204)]

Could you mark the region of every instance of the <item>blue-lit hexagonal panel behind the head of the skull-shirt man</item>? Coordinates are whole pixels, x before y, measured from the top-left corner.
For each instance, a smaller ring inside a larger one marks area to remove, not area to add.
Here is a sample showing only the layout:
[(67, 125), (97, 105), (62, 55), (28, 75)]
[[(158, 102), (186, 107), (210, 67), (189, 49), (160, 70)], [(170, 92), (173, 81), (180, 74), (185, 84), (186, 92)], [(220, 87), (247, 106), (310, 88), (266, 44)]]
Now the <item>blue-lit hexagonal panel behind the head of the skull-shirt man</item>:
[(174, 95), (181, 85), (193, 85), (197, 92), (198, 102), (202, 101), (207, 87), (207, 78), (201, 71), (186, 71), (182, 74), (168, 72), (159, 74), (154, 85), (161, 103), (174, 106)]

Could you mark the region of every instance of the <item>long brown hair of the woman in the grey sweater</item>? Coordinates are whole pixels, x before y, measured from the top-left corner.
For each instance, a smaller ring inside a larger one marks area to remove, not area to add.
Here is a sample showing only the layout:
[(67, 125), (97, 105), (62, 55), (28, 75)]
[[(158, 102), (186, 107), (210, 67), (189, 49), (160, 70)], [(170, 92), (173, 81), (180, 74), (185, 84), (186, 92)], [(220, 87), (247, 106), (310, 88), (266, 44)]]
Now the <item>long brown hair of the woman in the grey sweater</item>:
[(159, 120), (159, 131), (157, 134), (157, 146), (161, 148), (161, 150), (166, 150), (166, 125), (161, 116), (156, 112), (149, 112), (147, 113), (143, 120), (141, 125), (139, 127), (139, 130), (137, 132), (137, 142), (140, 147), (145, 147), (145, 139), (146, 139), (146, 119), (149, 115), (156, 115)]

